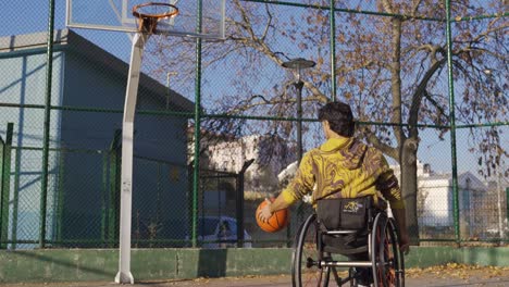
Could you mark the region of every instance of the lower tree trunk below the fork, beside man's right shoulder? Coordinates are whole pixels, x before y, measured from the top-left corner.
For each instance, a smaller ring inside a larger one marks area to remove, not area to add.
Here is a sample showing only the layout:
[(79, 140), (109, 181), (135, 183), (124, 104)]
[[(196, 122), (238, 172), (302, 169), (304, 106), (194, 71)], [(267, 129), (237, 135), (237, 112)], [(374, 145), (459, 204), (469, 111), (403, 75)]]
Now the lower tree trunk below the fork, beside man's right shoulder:
[(417, 212), (418, 175), (417, 139), (408, 138), (401, 147), (401, 192), (405, 200), (407, 228), (411, 245), (419, 245), (419, 223)]

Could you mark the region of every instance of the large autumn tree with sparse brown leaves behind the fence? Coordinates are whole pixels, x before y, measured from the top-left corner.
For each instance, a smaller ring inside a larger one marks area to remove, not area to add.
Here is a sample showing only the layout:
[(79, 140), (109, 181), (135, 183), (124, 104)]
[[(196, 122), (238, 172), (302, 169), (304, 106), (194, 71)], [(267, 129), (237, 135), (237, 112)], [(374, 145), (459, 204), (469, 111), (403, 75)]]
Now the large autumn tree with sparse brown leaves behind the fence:
[[(450, 1), (457, 99), (450, 107), (445, 1), (337, 1), (335, 52), (331, 49), (330, 1), (303, 2), (309, 7), (228, 1), (226, 39), (204, 42), (200, 54), (202, 98), (207, 99), (202, 105), (207, 113), (293, 117), (293, 78), (281, 65), (291, 58), (312, 59), (316, 66), (303, 78), (305, 117), (314, 118), (316, 105), (337, 95), (337, 100), (353, 107), (359, 122), (385, 123), (359, 124), (358, 133), (399, 163), (408, 227), (415, 241), (420, 128), (433, 125), (443, 138), (449, 132), (452, 109), (457, 124), (507, 124), (508, 22), (500, 13), (506, 8), (497, 0)], [(177, 66), (176, 80), (183, 87), (188, 83), (191, 91), (195, 40), (178, 38), (171, 48), (164, 45), (151, 51), (164, 63), (161, 71)], [(284, 138), (295, 129), (290, 121), (256, 122), (248, 127), (244, 120), (224, 117), (203, 123), (219, 132), (249, 128), (249, 133)], [(472, 135), (483, 171), (489, 172), (507, 157), (496, 127), (472, 129)]]

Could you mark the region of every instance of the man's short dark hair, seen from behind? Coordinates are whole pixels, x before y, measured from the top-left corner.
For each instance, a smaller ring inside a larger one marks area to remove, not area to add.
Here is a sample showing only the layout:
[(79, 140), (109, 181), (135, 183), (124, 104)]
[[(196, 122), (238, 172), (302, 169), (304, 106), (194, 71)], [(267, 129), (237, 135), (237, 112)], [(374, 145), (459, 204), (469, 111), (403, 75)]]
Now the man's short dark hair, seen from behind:
[(353, 114), (350, 105), (340, 102), (330, 102), (319, 110), (319, 121), (327, 121), (331, 129), (343, 137), (353, 136)]

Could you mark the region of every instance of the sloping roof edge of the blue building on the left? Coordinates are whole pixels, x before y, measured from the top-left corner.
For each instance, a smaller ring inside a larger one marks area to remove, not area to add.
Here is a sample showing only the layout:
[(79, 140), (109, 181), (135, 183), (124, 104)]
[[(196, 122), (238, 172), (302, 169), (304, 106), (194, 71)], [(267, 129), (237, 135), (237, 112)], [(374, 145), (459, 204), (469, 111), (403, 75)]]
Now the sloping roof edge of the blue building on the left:
[[(47, 47), (47, 33), (35, 33), (24, 35), (13, 35), (0, 37), (0, 54), (1, 53), (41, 53), (46, 51)], [(89, 62), (97, 63), (98, 65), (108, 66), (108, 70), (125, 76), (127, 80), (127, 73), (129, 65), (113, 54), (104, 51), (97, 45), (85, 39), (71, 29), (55, 30), (53, 35), (53, 49), (57, 51), (71, 51), (84, 57)], [(12, 55), (9, 55), (12, 57)], [(1, 57), (4, 58), (4, 57)], [(141, 73), (139, 86), (154, 95), (161, 95), (161, 101), (165, 103), (167, 95), (167, 87), (153, 79), (152, 77)], [(170, 101), (172, 104), (179, 108), (179, 111), (194, 111), (194, 102), (184, 98), (182, 95), (174, 90), (170, 91), (172, 97)]]

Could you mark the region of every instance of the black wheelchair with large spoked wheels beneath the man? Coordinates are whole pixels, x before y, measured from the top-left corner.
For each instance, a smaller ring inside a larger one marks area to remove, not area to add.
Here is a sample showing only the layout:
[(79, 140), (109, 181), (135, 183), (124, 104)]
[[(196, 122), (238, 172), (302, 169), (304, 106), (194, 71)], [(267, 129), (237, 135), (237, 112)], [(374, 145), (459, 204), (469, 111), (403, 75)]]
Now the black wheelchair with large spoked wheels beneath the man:
[[(360, 244), (345, 248), (345, 238), (361, 239)], [(351, 260), (359, 254), (361, 260)], [(396, 222), (387, 215), (386, 209), (370, 209), (364, 230), (324, 229), (313, 212), (298, 229), (291, 261), (294, 287), (327, 287), (331, 277), (337, 286), (348, 283), (351, 287), (405, 286), (405, 260), (399, 250)], [(346, 269), (348, 275), (342, 278), (339, 274), (346, 272), (342, 273), (339, 269)], [(362, 283), (367, 275), (372, 276), (369, 285)]]

